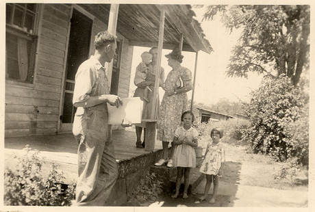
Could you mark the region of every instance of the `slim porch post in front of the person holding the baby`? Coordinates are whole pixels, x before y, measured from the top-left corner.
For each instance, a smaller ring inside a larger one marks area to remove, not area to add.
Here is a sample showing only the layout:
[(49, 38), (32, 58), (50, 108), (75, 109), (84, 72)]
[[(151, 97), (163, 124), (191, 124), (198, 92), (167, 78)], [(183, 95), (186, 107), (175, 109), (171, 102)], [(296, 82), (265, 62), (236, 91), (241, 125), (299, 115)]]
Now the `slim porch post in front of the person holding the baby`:
[(159, 109), (159, 101), (157, 95), (159, 94), (160, 87), (160, 72), (161, 72), (161, 58), (162, 58), (162, 48), (163, 48), (163, 37), (164, 37), (164, 19), (165, 19), (165, 9), (162, 8), (160, 14), (160, 32), (159, 32), (159, 43), (157, 47), (157, 72), (155, 72), (155, 87), (152, 100), (152, 110), (151, 110), (151, 122), (146, 122), (146, 135), (145, 136), (145, 148), (146, 151), (153, 152), (155, 146), (155, 131), (157, 118), (155, 117), (157, 109)]

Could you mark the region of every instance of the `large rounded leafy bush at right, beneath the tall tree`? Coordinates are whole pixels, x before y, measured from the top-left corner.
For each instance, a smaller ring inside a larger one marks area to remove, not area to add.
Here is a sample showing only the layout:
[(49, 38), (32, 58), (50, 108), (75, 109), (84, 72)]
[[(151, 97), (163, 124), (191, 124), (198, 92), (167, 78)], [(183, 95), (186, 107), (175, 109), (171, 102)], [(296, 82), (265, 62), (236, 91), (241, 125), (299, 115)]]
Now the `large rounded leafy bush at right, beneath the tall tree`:
[(247, 107), (251, 125), (243, 139), (251, 141), (254, 153), (272, 155), (277, 161), (308, 159), (308, 118), (304, 109), (308, 96), (285, 76), (265, 77), (251, 96)]

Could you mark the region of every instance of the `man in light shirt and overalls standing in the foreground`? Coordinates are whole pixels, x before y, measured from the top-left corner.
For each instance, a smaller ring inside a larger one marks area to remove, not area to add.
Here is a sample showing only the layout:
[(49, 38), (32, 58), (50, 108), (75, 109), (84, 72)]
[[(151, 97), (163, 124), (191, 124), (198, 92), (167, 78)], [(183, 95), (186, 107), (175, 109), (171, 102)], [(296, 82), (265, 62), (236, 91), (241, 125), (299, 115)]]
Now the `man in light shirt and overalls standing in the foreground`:
[(116, 107), (123, 103), (119, 96), (110, 94), (104, 68), (115, 55), (116, 36), (101, 31), (94, 44), (95, 54), (79, 66), (75, 75), (73, 135), (79, 143), (79, 178), (74, 206), (105, 205), (118, 173), (107, 103)]

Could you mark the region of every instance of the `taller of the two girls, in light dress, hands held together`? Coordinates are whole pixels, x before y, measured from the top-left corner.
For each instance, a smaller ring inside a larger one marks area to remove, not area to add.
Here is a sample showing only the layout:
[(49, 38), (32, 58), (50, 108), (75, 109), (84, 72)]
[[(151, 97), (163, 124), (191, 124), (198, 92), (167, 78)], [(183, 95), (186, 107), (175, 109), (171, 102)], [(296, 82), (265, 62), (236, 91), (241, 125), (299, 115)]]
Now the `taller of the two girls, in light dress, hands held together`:
[(172, 198), (177, 198), (181, 186), (181, 178), (184, 175), (184, 194), (183, 198), (188, 198), (190, 168), (196, 167), (196, 153), (194, 147), (198, 146), (198, 131), (192, 128), (194, 114), (186, 111), (181, 115), (181, 121), (184, 126), (178, 127), (175, 131), (173, 144), (175, 151), (173, 156), (173, 165), (177, 167), (176, 191)]

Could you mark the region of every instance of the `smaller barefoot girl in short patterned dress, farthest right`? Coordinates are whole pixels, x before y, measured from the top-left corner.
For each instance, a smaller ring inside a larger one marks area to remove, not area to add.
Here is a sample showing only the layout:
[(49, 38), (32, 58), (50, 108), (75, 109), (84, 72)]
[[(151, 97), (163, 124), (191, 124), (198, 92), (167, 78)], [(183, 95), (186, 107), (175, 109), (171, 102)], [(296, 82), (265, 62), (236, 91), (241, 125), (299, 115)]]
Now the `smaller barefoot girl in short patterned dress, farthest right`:
[(210, 133), (212, 138), (212, 144), (209, 142), (207, 144), (207, 150), (205, 150), (205, 159), (201, 164), (200, 172), (204, 173), (207, 178), (207, 183), (205, 184), (205, 193), (200, 198), (200, 201), (207, 198), (207, 194), (211, 187), (213, 180), (213, 196), (210, 199), (210, 203), (216, 202), (216, 195), (218, 194), (218, 176), (222, 176), (223, 165), (225, 162), (225, 150), (219, 144), (220, 138), (223, 137), (222, 129), (214, 128)]

